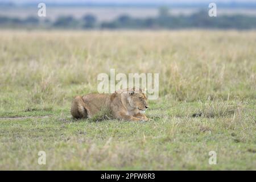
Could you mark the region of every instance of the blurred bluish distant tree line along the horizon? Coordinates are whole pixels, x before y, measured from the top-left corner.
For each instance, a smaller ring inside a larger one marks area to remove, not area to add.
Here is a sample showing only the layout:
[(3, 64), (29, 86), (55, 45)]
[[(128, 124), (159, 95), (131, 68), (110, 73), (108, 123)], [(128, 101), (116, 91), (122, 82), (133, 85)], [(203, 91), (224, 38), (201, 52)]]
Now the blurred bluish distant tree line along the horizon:
[(208, 11), (198, 11), (191, 15), (170, 15), (165, 7), (159, 9), (154, 18), (133, 18), (120, 15), (109, 22), (98, 22), (96, 16), (87, 14), (76, 19), (73, 16), (59, 16), (55, 20), (40, 20), (37, 17), (26, 19), (0, 16), (0, 27), (24, 28), (72, 28), (72, 29), (178, 29), (178, 28), (256, 28), (256, 16), (221, 15), (210, 17)]

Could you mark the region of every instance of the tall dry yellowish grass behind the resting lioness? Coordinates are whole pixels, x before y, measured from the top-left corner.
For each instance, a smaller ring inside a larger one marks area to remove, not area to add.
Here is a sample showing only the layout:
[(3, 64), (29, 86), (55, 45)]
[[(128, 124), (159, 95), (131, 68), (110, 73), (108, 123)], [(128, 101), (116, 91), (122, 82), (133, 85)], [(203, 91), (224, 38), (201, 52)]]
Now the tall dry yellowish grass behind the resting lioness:
[[(255, 31), (1, 31), (1, 109), (65, 105), (97, 75), (159, 73), (180, 101), (255, 98)], [(17, 106), (18, 107), (18, 106)]]

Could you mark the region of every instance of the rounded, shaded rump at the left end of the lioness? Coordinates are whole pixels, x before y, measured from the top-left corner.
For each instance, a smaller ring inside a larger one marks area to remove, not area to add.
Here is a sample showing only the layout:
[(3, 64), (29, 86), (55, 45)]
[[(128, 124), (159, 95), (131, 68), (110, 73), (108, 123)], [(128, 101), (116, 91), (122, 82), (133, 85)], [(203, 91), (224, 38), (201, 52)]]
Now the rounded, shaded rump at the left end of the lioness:
[(76, 119), (87, 117), (86, 106), (81, 96), (76, 96), (75, 99), (73, 100), (72, 106), (71, 106), (71, 114)]

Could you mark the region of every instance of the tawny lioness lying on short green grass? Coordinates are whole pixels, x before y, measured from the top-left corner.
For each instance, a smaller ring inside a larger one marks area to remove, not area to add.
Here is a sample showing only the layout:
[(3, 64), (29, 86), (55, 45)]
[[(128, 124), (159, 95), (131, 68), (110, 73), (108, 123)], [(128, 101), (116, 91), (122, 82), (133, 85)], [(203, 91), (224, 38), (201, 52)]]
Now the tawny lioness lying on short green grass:
[(101, 110), (108, 109), (112, 116), (126, 121), (148, 121), (144, 114), (148, 108), (146, 94), (142, 89), (118, 90), (113, 94), (87, 94), (76, 96), (72, 102), (74, 118), (92, 118)]

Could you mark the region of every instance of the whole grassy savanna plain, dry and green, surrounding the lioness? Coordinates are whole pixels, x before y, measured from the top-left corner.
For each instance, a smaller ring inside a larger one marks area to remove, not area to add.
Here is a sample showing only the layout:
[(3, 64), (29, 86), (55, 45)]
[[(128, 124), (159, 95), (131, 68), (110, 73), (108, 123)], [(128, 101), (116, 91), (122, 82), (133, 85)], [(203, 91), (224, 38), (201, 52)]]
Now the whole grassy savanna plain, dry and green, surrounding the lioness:
[[(256, 169), (255, 31), (0, 34), (0, 169)], [(110, 68), (159, 73), (150, 121), (71, 117)]]

